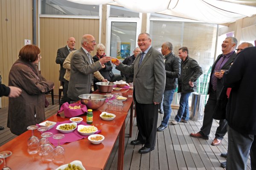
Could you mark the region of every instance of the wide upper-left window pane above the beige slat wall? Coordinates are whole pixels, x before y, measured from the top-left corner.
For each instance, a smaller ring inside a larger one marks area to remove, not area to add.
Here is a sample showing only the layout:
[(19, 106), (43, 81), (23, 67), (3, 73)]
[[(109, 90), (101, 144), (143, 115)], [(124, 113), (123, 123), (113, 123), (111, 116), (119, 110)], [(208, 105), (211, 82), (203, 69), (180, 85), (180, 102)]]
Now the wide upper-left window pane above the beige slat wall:
[(41, 0), (41, 14), (99, 16), (99, 6), (67, 0)]

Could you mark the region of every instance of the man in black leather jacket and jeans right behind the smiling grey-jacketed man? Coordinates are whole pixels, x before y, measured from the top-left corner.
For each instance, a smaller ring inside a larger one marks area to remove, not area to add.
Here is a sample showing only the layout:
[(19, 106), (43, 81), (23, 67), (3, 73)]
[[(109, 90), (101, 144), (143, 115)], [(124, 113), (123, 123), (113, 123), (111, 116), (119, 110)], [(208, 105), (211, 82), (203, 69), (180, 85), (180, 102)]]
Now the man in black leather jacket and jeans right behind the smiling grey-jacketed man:
[(166, 129), (171, 116), (172, 97), (177, 87), (177, 78), (180, 76), (180, 59), (172, 52), (172, 43), (163, 43), (162, 54), (165, 56), (166, 85), (163, 93), (163, 121), (157, 127), (157, 131)]

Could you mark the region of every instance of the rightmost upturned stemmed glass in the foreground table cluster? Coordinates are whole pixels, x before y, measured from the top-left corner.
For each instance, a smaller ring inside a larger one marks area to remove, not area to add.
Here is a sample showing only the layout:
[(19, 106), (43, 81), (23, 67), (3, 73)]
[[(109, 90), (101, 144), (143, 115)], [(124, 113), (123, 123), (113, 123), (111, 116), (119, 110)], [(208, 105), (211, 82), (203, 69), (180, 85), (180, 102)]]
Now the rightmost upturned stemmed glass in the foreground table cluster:
[(60, 145), (60, 139), (62, 139), (64, 137), (65, 137), (64, 134), (56, 134), (56, 135), (52, 136), (52, 138), (58, 140), (58, 146), (54, 148), (54, 150), (53, 150), (53, 158), (52, 158), (53, 163), (55, 163), (57, 165), (61, 165), (65, 161), (65, 156), (64, 156), (65, 149), (64, 149), (64, 147), (62, 147)]

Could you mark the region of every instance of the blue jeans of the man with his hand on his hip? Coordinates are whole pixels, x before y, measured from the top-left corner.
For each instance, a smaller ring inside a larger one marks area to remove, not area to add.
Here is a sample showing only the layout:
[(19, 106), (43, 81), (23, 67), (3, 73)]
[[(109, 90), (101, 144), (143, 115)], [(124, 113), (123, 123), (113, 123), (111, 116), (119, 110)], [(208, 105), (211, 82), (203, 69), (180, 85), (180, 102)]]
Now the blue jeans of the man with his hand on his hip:
[(175, 121), (180, 122), (181, 117), (183, 120), (189, 120), (189, 95), (191, 92), (188, 93), (181, 93), (180, 95), (180, 107), (175, 116)]

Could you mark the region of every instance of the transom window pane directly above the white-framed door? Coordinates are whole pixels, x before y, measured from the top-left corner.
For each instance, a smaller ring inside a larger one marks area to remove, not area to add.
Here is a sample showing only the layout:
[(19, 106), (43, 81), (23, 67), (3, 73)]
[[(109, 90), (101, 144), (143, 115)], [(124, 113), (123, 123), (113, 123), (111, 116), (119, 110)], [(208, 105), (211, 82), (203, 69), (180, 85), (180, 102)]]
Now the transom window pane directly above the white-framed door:
[(110, 17), (139, 17), (140, 13), (132, 12), (120, 6), (111, 6)]

